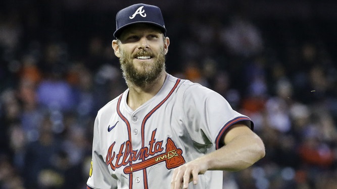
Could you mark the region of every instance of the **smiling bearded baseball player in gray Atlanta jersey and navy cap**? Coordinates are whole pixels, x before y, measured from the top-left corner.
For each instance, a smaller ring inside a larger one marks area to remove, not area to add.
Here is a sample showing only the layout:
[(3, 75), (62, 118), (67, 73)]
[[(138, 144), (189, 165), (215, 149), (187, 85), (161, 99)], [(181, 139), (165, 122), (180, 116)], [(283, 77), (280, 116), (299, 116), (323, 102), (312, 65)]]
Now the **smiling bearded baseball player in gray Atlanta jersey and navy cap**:
[(87, 189), (218, 189), (222, 170), (264, 156), (249, 117), (218, 93), (166, 73), (170, 40), (158, 7), (119, 11), (114, 37), (128, 89), (97, 114)]

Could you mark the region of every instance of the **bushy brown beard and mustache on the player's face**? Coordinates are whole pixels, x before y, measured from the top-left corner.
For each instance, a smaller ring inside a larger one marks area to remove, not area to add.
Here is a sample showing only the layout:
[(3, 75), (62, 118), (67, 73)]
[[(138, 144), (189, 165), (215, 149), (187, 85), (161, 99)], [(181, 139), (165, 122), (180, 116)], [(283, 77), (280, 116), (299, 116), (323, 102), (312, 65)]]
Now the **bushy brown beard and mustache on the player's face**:
[[(123, 77), (128, 86), (135, 85), (143, 87), (154, 82), (160, 74), (165, 71), (165, 52), (162, 48), (157, 57), (154, 57), (150, 51), (140, 50), (136, 54), (127, 54), (123, 49), (120, 49), (121, 57), (119, 62), (123, 71)], [(132, 59), (137, 55), (150, 55), (155, 58), (154, 65), (141, 65), (142, 71), (138, 71), (132, 64)]]

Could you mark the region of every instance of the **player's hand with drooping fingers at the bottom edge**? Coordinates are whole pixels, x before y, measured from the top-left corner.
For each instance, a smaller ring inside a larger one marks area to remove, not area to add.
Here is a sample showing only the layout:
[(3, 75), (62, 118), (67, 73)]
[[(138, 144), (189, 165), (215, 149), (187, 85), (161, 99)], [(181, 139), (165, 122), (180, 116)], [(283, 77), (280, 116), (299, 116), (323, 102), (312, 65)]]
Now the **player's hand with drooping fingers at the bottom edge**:
[(188, 183), (198, 183), (198, 175), (204, 174), (208, 169), (207, 163), (203, 158), (183, 164), (173, 170), (171, 189), (188, 188)]

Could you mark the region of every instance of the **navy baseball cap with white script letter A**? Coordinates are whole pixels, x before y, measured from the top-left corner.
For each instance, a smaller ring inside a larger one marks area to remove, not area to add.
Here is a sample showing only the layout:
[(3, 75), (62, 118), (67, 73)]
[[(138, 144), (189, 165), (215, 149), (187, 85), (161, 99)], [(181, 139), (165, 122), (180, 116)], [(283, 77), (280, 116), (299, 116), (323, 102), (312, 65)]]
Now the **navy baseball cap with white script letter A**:
[(139, 23), (158, 26), (163, 31), (164, 35), (166, 35), (163, 15), (159, 7), (146, 4), (135, 4), (124, 8), (117, 13), (114, 37), (119, 37), (125, 27)]

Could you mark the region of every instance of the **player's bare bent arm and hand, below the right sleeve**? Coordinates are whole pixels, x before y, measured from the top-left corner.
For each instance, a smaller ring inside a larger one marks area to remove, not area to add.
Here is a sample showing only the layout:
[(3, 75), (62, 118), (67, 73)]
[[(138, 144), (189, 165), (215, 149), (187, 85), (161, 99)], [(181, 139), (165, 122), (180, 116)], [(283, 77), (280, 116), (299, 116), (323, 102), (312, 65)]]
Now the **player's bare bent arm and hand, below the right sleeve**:
[(245, 169), (265, 156), (265, 147), (247, 125), (234, 124), (223, 134), (224, 146), (212, 153), (174, 169), (171, 188), (187, 188), (188, 183), (198, 183), (198, 175), (207, 170), (238, 171)]

